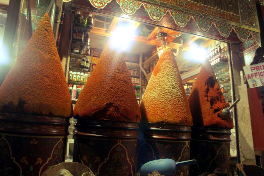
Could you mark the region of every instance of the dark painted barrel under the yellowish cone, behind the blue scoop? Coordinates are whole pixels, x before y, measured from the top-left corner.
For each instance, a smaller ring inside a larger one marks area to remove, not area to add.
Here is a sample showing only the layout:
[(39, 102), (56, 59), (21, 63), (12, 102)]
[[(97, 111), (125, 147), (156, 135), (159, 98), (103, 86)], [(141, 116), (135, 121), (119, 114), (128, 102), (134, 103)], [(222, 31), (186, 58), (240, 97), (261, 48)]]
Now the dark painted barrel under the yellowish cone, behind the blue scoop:
[[(189, 160), (191, 127), (165, 124), (140, 124), (136, 172), (151, 160), (170, 158)], [(175, 176), (188, 176), (189, 166), (177, 167)]]

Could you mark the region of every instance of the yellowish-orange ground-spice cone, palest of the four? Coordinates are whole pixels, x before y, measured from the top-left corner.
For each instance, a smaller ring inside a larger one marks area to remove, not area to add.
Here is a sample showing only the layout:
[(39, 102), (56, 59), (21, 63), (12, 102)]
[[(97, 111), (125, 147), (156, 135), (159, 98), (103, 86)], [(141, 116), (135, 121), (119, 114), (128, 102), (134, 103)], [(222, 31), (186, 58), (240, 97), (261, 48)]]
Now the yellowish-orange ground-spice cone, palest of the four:
[(144, 122), (192, 125), (187, 96), (171, 48), (158, 60), (139, 107)]

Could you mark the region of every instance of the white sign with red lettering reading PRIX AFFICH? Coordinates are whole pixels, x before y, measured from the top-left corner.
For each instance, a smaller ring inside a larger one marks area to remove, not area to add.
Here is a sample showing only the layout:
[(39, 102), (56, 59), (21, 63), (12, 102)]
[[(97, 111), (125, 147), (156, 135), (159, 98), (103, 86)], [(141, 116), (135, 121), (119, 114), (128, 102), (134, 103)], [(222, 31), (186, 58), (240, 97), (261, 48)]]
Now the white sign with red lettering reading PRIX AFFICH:
[(243, 67), (249, 88), (264, 86), (264, 63)]

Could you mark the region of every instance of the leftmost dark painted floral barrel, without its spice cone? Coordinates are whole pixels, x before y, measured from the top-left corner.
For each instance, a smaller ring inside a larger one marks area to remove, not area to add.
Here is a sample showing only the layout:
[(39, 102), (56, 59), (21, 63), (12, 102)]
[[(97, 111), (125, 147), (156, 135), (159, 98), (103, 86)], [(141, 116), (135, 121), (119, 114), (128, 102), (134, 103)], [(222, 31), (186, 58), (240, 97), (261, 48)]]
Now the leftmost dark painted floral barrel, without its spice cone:
[(41, 175), (64, 162), (69, 119), (0, 113), (0, 175)]

